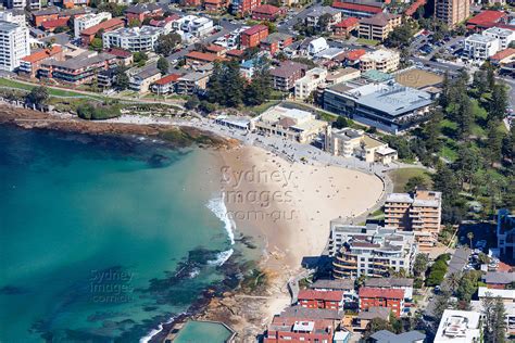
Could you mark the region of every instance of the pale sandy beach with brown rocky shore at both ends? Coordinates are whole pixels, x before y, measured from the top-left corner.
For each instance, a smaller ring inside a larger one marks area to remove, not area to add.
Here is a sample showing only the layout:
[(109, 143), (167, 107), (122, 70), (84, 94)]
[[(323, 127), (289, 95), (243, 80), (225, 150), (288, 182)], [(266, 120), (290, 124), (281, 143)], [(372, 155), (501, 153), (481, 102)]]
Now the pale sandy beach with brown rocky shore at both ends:
[[(163, 139), (163, 131), (177, 130), (186, 131), (186, 140), (189, 139), (190, 144), (215, 149), (222, 166), (221, 191), (227, 207), (225, 215), (234, 217), (236, 232), (233, 224), (233, 234), (250, 237), (263, 244), (259, 246), (256, 264), (267, 280), (266, 287), (251, 292), (237, 288), (222, 294), (216, 287), (209, 288), (185, 314), (162, 322), (162, 330), (155, 332), (149, 342), (162, 341), (177, 322), (188, 318), (224, 321), (238, 332), (238, 340), (255, 339), (273, 316), (289, 305), (286, 284), (301, 270), (302, 257), (323, 253), (329, 234), (329, 220), (339, 216), (357, 217), (370, 211), (384, 193), (382, 180), (378, 176), (343, 167), (291, 163), (263, 148), (242, 145), (235, 139), (192, 126), (58, 119), (41, 112), (0, 104), (1, 123), (25, 129), (137, 135), (160, 139)], [(200, 142), (197, 140), (199, 137)], [(184, 140), (179, 142), (185, 143)], [(238, 173), (254, 173), (254, 176), (267, 178), (238, 178)], [(225, 223), (227, 230), (227, 221), (217, 217)], [(229, 234), (229, 240), (233, 243), (235, 237)], [(228, 263), (221, 268), (230, 269), (228, 265), (236, 265), (233, 261), (236, 257), (234, 254), (229, 256)], [(141, 339), (149, 338), (156, 329), (151, 328)]]

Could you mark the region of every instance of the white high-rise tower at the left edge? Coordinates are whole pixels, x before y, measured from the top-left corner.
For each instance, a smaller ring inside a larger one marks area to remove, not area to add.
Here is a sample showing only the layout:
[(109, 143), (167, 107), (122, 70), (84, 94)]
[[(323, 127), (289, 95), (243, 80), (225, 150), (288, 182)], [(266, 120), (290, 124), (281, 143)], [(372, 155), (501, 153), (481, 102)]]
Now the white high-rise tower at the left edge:
[(28, 54), (30, 54), (28, 28), (1, 21), (0, 71), (14, 71), (20, 66), (20, 60)]

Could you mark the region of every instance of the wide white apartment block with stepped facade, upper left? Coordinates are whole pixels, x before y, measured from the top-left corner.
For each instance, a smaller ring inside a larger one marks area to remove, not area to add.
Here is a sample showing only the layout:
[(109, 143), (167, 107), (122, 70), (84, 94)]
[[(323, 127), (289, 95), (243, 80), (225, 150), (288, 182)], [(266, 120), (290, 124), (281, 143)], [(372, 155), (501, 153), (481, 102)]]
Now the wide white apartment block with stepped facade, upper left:
[(102, 35), (104, 48), (121, 48), (129, 51), (149, 51), (156, 46), (164, 33), (162, 27), (122, 27)]

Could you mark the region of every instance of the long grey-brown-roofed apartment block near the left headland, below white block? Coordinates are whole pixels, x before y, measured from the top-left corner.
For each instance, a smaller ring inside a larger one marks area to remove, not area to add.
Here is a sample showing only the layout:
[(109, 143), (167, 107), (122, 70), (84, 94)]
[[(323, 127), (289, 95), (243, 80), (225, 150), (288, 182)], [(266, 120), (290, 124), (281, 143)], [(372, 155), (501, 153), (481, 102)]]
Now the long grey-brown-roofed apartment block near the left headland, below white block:
[(90, 82), (101, 71), (116, 66), (116, 56), (85, 51), (66, 60), (48, 59), (41, 62), (39, 75), (64, 84), (78, 86)]

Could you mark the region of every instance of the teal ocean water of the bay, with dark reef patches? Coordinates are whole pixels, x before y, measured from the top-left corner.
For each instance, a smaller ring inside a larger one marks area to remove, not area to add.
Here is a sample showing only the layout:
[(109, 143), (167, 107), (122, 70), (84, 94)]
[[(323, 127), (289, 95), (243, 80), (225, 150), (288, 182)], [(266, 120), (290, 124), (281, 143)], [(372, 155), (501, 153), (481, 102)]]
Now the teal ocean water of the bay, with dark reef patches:
[(0, 342), (147, 342), (228, 285), (234, 228), (211, 161), (0, 126)]

